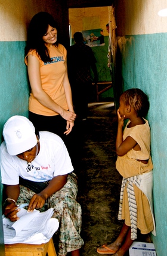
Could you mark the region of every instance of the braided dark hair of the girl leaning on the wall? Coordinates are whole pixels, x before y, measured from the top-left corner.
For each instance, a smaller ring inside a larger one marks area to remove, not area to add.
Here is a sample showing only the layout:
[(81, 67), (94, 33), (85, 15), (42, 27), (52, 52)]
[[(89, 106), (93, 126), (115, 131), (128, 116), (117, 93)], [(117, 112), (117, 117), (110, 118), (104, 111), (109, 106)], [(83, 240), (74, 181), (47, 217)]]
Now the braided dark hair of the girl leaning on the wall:
[(129, 89), (122, 94), (125, 105), (134, 108), (137, 116), (144, 117), (149, 111), (149, 100), (146, 94), (138, 88)]

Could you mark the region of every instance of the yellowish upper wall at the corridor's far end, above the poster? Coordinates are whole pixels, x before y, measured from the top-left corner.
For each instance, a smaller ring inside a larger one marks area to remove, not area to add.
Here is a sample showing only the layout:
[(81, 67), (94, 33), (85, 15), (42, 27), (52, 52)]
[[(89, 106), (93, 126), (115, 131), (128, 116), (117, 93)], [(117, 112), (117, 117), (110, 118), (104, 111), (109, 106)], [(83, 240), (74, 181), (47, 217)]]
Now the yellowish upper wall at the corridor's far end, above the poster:
[[(86, 22), (85, 27), (85, 19), (89, 20), (91, 17), (95, 17), (98, 22), (94, 23), (94, 28), (92, 28), (92, 23), (88, 27), (88, 22)], [(104, 31), (104, 36), (109, 35), (106, 31), (106, 24), (109, 22), (108, 7), (69, 9), (69, 22), (72, 27), (72, 34), (77, 31), (101, 28)]]

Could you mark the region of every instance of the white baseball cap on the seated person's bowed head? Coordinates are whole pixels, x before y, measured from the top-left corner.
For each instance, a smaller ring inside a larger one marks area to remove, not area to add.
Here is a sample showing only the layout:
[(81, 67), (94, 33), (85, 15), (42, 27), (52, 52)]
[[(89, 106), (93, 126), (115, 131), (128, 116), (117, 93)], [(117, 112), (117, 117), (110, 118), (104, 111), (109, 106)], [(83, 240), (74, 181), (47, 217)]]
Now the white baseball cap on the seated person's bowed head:
[(24, 116), (12, 116), (4, 125), (3, 136), (10, 155), (32, 149), (37, 143), (35, 127)]

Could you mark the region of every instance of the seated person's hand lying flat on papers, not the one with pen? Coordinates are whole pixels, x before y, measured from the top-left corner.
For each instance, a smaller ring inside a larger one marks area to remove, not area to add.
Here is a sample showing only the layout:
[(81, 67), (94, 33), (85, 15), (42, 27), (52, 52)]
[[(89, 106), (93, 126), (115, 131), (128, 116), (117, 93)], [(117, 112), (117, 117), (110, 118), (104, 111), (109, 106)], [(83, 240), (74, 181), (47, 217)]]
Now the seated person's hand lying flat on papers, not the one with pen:
[(41, 193), (33, 195), (28, 206), (28, 212), (33, 212), (34, 209), (39, 209), (44, 206), (46, 198)]

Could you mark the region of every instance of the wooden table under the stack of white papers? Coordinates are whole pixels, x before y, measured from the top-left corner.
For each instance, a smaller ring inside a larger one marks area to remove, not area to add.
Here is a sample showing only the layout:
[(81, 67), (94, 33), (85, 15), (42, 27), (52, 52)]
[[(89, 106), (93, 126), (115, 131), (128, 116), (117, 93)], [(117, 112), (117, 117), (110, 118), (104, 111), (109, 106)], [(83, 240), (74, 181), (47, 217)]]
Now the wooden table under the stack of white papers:
[(42, 245), (29, 245), (26, 243), (14, 243), (5, 245), (5, 256), (57, 256), (54, 243), (51, 240)]

